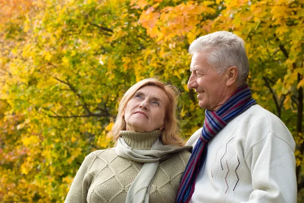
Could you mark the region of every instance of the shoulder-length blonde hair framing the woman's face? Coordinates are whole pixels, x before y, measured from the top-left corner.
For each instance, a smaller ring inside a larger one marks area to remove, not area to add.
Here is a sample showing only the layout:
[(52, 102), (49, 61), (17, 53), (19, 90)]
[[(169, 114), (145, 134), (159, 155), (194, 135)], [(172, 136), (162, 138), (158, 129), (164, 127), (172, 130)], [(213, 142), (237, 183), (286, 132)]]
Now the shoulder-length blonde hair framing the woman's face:
[(115, 124), (112, 127), (112, 135), (114, 140), (117, 141), (120, 137), (120, 131), (126, 130), (126, 121), (123, 116), (124, 110), (127, 106), (129, 100), (133, 97), (133, 95), (138, 91), (140, 88), (145, 86), (156, 86), (162, 89), (166, 95), (168, 96), (168, 103), (166, 106), (165, 112), (165, 129), (162, 130), (161, 139), (163, 140), (164, 144), (174, 144), (178, 146), (183, 145), (183, 140), (178, 136), (179, 133), (179, 125), (178, 120), (176, 118), (176, 105), (177, 105), (177, 97), (179, 91), (173, 85), (165, 84), (161, 82), (157, 78), (146, 78), (141, 80), (140, 82), (133, 85), (123, 96), (120, 105), (118, 107), (118, 114), (115, 121)]

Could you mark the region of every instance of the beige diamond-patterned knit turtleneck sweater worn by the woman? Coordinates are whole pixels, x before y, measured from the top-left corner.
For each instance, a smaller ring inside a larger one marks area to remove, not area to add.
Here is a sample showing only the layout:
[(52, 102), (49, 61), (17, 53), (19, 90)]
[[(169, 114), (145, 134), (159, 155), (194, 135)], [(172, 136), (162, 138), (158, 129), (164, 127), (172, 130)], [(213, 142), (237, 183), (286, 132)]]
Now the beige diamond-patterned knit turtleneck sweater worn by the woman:
[[(160, 137), (158, 131), (125, 131), (122, 138), (132, 149), (149, 150)], [(186, 167), (188, 151), (182, 151), (160, 163), (150, 187), (149, 203), (174, 202)], [(65, 203), (125, 203), (130, 185), (143, 164), (117, 156), (115, 148), (90, 153), (80, 167)]]

